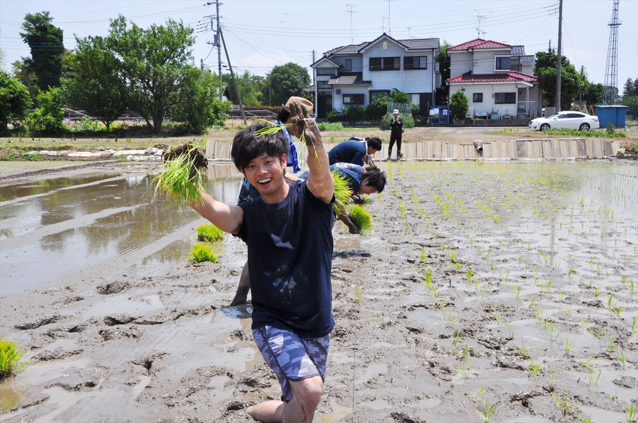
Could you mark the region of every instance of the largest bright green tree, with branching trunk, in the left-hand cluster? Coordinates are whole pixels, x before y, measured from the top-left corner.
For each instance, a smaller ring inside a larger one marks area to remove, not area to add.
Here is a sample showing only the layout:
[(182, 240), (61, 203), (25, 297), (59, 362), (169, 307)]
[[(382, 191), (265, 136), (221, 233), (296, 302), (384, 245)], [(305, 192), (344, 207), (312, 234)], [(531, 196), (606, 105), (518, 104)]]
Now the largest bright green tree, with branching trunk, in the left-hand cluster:
[(133, 22), (129, 27), (120, 15), (111, 21), (106, 43), (128, 82), (130, 108), (159, 134), (170, 110), (189, 101), (181, 91), (189, 81), (193, 62), (193, 29), (172, 19), (148, 29)]

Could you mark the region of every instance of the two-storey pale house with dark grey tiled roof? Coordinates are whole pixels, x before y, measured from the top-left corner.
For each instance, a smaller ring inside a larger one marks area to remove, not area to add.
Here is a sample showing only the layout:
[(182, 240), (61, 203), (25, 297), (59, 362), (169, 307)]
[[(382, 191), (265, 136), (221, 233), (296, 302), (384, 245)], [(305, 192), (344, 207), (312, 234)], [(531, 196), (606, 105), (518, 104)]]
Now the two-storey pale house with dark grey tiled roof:
[(377, 95), (392, 89), (406, 92), (427, 111), (441, 86), (438, 38), (394, 39), (382, 34), (373, 41), (333, 48), (311, 64), (316, 86), (313, 95), (317, 117), (330, 110), (367, 106)]

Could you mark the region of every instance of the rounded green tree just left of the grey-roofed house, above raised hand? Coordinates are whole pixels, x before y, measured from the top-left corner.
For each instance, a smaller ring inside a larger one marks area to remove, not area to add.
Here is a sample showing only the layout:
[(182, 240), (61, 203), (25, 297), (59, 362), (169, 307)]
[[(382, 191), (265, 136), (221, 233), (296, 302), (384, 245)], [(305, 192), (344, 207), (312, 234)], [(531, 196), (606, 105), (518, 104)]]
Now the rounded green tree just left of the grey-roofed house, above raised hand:
[(269, 89), (274, 105), (284, 104), (292, 96), (308, 98), (308, 93), (304, 91), (308, 85), (310, 85), (308, 70), (296, 63), (288, 62), (275, 66), (266, 75), (262, 86), (263, 98), (269, 98)]

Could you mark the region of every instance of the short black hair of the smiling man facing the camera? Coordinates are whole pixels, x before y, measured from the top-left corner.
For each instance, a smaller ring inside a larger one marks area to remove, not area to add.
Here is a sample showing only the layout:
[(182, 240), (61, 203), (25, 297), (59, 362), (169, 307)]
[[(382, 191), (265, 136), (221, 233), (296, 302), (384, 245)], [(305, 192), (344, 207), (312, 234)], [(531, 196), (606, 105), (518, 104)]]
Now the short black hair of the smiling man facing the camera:
[(272, 157), (288, 154), (288, 140), (283, 132), (277, 131), (274, 134), (255, 136), (256, 131), (269, 126), (272, 126), (269, 122), (259, 122), (235, 134), (230, 157), (239, 171), (242, 171), (255, 157), (263, 153)]

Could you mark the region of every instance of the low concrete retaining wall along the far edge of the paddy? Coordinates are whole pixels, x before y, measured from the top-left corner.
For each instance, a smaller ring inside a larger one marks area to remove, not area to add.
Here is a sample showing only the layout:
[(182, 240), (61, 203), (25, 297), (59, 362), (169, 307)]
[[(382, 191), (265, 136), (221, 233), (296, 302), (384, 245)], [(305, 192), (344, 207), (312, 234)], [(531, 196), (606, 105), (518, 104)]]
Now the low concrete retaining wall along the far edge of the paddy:
[[(334, 143), (326, 143), (328, 150)], [(231, 143), (209, 140), (206, 145), (208, 159), (230, 160)], [(618, 141), (582, 138), (554, 138), (538, 140), (483, 141), (482, 154), (472, 142), (457, 144), (443, 141), (411, 141), (401, 145), (406, 160), (463, 160), (463, 159), (601, 159), (615, 154)], [(396, 145), (392, 157), (396, 155)], [(388, 157), (388, 143), (375, 154), (376, 160)]]

